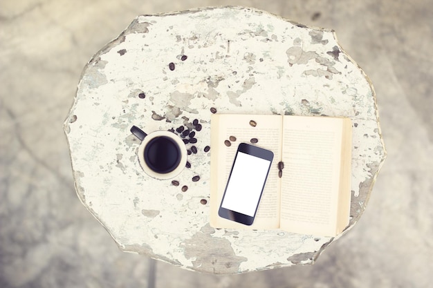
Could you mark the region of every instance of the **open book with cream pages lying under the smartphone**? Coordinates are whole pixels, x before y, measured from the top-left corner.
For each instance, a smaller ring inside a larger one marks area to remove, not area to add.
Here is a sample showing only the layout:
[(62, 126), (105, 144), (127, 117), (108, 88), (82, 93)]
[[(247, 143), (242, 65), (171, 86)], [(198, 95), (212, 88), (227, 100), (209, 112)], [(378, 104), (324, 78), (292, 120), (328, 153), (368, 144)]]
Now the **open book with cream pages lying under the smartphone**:
[[(210, 225), (341, 233), (349, 224), (351, 128), (342, 117), (212, 115)], [(256, 140), (254, 145), (273, 151), (274, 160), (256, 218), (246, 226), (221, 218), (218, 210), (237, 146)]]

